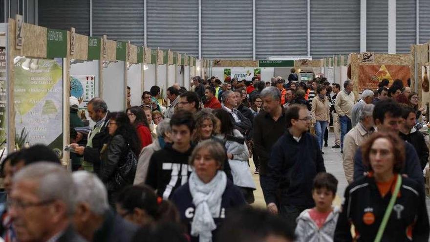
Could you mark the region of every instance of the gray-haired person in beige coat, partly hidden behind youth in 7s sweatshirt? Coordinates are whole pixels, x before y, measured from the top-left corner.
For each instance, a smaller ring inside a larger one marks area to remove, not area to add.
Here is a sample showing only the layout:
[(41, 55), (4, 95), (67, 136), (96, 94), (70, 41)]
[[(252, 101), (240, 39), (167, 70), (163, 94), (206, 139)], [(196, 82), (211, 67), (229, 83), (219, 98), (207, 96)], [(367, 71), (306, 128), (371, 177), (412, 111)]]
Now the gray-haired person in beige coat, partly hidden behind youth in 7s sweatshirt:
[(134, 185), (145, 182), (148, 175), (148, 167), (150, 165), (152, 154), (163, 149), (166, 143), (172, 143), (172, 139), (170, 137), (171, 131), (170, 118), (165, 118), (158, 124), (158, 138), (154, 139), (152, 144), (144, 147), (140, 152), (139, 160), (137, 162), (136, 175), (134, 176)]

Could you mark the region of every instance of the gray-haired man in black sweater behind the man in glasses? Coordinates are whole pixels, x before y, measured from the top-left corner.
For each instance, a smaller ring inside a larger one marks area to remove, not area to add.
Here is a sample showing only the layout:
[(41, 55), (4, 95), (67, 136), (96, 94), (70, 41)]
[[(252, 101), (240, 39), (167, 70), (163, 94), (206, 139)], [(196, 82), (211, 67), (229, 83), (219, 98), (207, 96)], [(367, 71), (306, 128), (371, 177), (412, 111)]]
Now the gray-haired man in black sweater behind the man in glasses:
[[(270, 159), (272, 146), (286, 131), (285, 111), (281, 106), (280, 90), (276, 87), (264, 88), (260, 93), (263, 100), (263, 110), (254, 118), (254, 155), (258, 156), (256, 167), (260, 175), (261, 189), (264, 199), (267, 198), (267, 163)], [(278, 201), (279, 202), (279, 201)], [(279, 205), (279, 204), (278, 204)]]

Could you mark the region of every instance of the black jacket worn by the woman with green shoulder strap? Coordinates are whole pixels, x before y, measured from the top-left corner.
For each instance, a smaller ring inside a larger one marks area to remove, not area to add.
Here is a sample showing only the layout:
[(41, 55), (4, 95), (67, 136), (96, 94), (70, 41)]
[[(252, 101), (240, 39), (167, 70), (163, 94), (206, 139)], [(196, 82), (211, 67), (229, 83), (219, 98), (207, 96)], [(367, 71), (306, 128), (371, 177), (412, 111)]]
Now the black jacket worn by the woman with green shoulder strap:
[[(381, 242), (427, 242), (429, 218), (422, 187), (416, 181), (403, 177), (399, 194)], [(358, 233), (358, 242), (374, 241), (391, 198), (391, 192), (389, 191), (384, 198), (381, 197), (375, 178), (364, 176), (349, 184), (344, 196), (334, 241), (351, 242), (351, 224), (354, 224), (355, 231)], [(367, 220), (369, 224), (364, 222), (365, 213), (373, 215), (373, 221)], [(413, 225), (412, 240), (409, 240), (407, 234), (409, 225)]]

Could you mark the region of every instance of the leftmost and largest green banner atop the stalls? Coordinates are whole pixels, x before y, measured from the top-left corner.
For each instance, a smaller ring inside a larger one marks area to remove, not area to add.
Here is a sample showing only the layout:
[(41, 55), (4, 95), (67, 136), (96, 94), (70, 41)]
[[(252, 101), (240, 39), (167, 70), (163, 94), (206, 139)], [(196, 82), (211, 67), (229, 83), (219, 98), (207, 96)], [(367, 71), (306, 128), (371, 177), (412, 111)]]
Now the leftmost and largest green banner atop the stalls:
[(46, 32), (46, 58), (67, 56), (67, 31), (48, 28)]

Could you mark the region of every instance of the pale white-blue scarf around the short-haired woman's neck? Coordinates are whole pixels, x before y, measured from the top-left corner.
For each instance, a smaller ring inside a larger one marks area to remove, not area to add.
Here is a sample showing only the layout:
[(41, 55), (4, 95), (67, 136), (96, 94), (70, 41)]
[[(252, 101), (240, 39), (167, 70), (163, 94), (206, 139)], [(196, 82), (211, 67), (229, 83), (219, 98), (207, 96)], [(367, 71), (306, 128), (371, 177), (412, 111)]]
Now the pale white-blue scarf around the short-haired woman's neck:
[(191, 235), (199, 236), (199, 242), (212, 242), (212, 231), (216, 229), (214, 217), (218, 218), (221, 210), (227, 176), (223, 171), (218, 171), (209, 183), (203, 183), (193, 172), (188, 182), (195, 205)]

